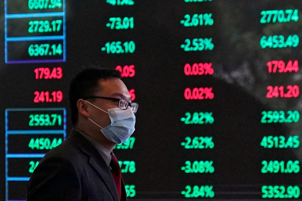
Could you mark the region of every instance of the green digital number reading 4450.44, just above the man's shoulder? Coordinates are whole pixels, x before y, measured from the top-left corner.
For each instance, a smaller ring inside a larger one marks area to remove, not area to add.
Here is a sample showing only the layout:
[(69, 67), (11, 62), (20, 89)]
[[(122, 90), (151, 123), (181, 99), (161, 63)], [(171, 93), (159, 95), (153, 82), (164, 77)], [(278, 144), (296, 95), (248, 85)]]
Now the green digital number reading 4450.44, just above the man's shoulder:
[(52, 141), (49, 138), (32, 138), (28, 144), (28, 147), (31, 149), (52, 149), (62, 143), (62, 138), (54, 138)]

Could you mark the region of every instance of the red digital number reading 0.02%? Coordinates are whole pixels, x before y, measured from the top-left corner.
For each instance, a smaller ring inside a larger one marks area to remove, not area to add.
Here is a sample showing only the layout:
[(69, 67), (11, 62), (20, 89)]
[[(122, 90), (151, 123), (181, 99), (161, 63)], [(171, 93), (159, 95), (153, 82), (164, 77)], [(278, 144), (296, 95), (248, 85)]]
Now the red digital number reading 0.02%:
[(185, 99), (187, 100), (201, 100), (201, 99), (213, 99), (214, 94), (212, 92), (212, 87), (210, 88), (194, 88), (191, 90), (190, 88), (185, 89)]

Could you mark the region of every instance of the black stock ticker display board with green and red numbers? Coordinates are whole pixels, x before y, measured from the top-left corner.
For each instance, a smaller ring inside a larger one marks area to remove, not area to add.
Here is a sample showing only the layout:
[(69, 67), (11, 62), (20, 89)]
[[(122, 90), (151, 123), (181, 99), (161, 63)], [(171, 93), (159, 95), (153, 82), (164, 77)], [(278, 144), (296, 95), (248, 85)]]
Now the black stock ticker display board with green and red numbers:
[(117, 69), (140, 104), (114, 148), (129, 200), (302, 200), (300, 0), (4, 0), (0, 199), (72, 129), (71, 79)]

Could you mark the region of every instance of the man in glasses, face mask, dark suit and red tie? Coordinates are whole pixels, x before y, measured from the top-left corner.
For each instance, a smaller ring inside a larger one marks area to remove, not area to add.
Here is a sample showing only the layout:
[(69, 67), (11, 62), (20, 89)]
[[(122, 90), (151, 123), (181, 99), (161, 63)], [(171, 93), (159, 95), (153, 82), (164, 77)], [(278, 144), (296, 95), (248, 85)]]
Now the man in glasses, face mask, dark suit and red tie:
[(120, 72), (86, 69), (69, 89), (74, 129), (49, 151), (32, 174), (27, 201), (125, 201), (127, 194), (112, 150), (134, 131), (138, 104)]

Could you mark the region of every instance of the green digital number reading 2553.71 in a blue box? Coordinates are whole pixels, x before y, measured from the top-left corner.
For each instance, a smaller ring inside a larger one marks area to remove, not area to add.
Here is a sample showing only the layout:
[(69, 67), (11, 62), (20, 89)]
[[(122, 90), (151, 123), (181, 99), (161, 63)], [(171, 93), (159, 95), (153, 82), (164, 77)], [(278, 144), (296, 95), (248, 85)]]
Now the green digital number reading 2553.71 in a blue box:
[[(61, 126), (62, 116), (59, 114), (31, 114), (29, 126)], [(58, 120), (58, 121), (57, 121)], [(57, 123), (56, 123), (57, 122)]]

